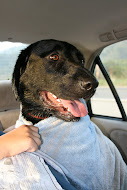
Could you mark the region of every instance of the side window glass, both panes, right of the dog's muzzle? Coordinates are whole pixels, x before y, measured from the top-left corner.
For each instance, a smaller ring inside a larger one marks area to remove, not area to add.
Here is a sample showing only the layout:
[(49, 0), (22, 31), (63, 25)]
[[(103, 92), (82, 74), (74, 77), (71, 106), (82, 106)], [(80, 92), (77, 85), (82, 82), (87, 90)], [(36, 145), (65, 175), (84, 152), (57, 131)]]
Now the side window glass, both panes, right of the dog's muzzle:
[[(125, 117), (127, 113), (127, 41), (122, 41), (106, 47), (95, 66), (94, 74), (99, 81), (96, 94), (91, 99), (92, 113), (97, 115), (122, 118), (121, 110)], [(104, 74), (107, 72), (109, 83)], [(103, 72), (103, 73), (102, 73)], [(113, 95), (114, 93), (114, 95)], [(115, 97), (117, 96), (118, 102)], [(120, 108), (119, 108), (120, 107)], [(120, 110), (121, 109), (121, 110)]]

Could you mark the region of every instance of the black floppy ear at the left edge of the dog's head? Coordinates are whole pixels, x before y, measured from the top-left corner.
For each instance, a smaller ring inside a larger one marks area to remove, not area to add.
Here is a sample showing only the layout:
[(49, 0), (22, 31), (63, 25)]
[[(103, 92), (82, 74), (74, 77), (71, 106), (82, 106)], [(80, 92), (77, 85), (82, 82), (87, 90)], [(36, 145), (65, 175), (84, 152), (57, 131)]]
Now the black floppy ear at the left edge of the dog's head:
[(31, 51), (29, 51), (29, 47), (27, 47), (25, 50), (22, 50), (14, 67), (12, 75), (12, 90), (16, 100), (20, 100), (20, 77), (25, 72), (30, 53)]

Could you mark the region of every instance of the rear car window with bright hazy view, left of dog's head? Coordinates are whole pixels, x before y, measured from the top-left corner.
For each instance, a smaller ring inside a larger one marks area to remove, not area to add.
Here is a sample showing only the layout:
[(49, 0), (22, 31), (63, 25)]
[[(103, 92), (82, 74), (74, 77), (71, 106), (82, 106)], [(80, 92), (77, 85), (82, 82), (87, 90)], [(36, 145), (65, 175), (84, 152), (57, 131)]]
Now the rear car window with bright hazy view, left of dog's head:
[(11, 80), (18, 55), (27, 46), (23, 43), (0, 42), (0, 80)]

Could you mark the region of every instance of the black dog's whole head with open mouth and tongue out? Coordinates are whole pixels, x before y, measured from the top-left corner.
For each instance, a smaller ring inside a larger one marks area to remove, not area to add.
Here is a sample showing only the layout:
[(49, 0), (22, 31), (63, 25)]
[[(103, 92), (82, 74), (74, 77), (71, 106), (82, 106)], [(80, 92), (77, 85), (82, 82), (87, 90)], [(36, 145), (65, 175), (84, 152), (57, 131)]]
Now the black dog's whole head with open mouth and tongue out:
[(33, 124), (51, 115), (79, 120), (84, 107), (78, 99), (90, 98), (98, 86), (84, 62), (80, 51), (63, 41), (42, 40), (23, 50), (12, 77), (23, 116)]

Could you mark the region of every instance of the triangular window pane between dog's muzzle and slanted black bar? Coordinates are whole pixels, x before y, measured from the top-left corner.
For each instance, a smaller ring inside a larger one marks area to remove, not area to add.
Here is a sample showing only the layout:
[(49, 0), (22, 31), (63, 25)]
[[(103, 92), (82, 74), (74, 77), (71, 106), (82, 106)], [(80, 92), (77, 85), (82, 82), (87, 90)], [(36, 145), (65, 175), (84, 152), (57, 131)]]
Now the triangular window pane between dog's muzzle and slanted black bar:
[(98, 65), (96, 65), (95, 76), (99, 81), (99, 87), (93, 98), (91, 98), (91, 106), (94, 114), (105, 115), (121, 118), (121, 113), (114, 99), (114, 96), (103, 77)]

